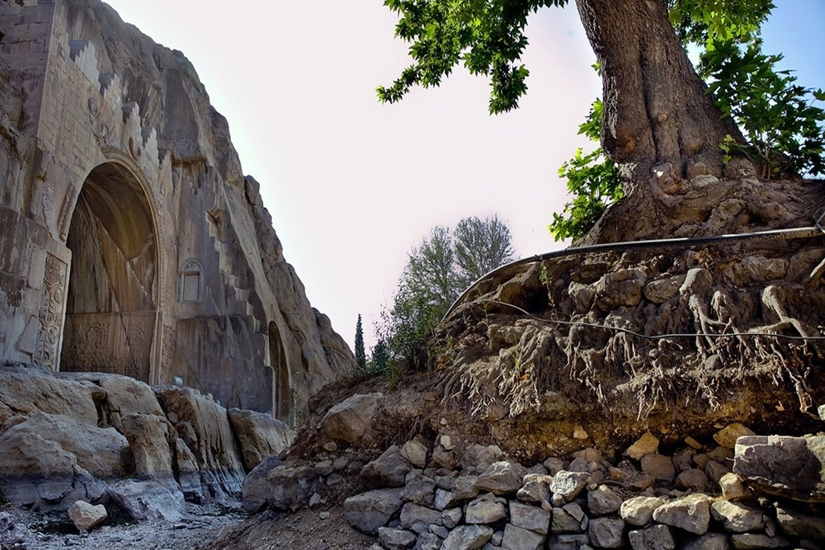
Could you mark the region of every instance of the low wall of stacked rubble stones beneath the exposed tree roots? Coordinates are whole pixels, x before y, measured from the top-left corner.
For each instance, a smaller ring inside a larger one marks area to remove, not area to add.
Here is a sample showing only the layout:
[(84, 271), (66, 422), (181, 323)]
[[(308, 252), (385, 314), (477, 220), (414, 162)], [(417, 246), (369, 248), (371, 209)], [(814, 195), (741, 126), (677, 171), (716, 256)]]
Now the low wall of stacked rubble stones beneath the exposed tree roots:
[[(349, 429), (336, 434), (352, 439)], [(334, 441), (323, 448), (314, 465), (252, 472), (247, 510), (314, 505), (319, 487), (357, 475), (369, 490), (347, 498), (344, 513), (378, 538), (373, 550), (825, 548), (823, 434), (759, 436), (733, 424), (712, 441), (665, 448), (645, 433), (621, 453), (582, 449), (530, 467), (446, 434), (368, 463), (352, 449), (336, 458)]]

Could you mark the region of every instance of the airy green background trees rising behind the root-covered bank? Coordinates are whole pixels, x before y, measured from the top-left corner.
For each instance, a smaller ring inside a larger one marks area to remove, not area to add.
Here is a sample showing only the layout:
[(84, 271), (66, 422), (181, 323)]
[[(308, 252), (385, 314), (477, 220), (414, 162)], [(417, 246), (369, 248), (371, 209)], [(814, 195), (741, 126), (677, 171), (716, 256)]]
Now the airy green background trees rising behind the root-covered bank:
[(378, 336), (390, 366), (414, 362), (419, 343), (464, 288), (513, 256), (510, 228), (497, 214), (461, 219), (454, 232), (432, 228), (410, 251), (392, 305), (381, 312)]

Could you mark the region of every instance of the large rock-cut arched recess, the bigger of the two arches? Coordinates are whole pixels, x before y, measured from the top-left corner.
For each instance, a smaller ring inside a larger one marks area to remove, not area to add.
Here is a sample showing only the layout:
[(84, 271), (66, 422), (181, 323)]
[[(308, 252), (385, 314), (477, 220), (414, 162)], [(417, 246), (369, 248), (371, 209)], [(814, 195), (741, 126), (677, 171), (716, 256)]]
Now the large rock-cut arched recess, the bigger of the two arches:
[(144, 186), (119, 162), (94, 168), (69, 225), (72, 251), (60, 369), (151, 383), (158, 231)]

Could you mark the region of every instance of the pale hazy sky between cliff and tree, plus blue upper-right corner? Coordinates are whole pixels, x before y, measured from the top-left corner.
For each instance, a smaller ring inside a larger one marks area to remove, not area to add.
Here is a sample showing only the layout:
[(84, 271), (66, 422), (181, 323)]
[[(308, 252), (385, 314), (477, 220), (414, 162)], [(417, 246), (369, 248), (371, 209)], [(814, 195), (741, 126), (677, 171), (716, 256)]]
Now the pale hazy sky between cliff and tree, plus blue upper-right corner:
[[(601, 82), (573, 5), (530, 18), (530, 91), (488, 115), (488, 82), (457, 70), (441, 88), (380, 105), (408, 64), (381, 0), (109, 0), (125, 21), (195, 65), (229, 120), (246, 174), (314, 307), (367, 346), (408, 251), (435, 224), (498, 212), (518, 256), (559, 247), (546, 226), (565, 200), (559, 166)], [(766, 51), (825, 87), (823, 0), (775, 0)], [(369, 353), (369, 349), (367, 350)]]

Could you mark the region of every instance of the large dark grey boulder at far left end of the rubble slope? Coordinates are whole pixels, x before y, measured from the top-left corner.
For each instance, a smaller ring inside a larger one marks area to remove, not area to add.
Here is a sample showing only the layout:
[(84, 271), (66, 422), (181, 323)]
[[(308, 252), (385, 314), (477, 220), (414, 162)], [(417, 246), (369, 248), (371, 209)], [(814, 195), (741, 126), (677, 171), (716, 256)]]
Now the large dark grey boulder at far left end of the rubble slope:
[(243, 507), (250, 513), (265, 506), (295, 510), (309, 501), (319, 482), (318, 472), (311, 466), (264, 461), (243, 482)]

